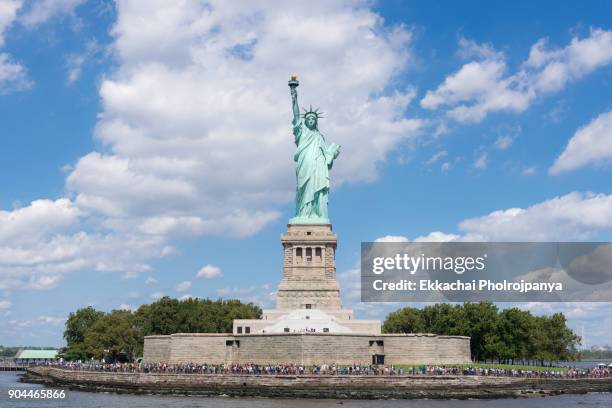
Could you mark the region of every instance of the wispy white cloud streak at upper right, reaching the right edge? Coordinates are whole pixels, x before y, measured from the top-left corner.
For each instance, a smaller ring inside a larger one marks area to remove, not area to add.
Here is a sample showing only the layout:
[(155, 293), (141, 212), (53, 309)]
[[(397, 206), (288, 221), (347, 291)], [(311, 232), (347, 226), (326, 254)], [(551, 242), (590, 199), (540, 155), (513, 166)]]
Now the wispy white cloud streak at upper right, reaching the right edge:
[[(542, 94), (557, 92), (612, 62), (612, 31), (592, 29), (574, 37), (562, 49), (547, 49), (540, 39), (514, 74), (507, 73), (505, 56), (490, 45), (460, 39), (460, 54), (476, 60), (449, 75), (421, 100), (426, 109), (447, 106), (446, 115), (459, 122), (480, 122), (490, 112), (523, 112)], [(463, 50), (463, 51), (462, 51)]]

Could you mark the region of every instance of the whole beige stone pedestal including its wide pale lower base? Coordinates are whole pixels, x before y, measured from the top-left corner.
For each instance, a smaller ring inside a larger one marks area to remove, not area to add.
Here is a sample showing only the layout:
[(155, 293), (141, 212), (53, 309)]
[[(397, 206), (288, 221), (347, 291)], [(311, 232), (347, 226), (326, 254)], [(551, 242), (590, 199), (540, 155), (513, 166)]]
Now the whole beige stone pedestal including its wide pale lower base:
[(380, 334), (378, 320), (356, 320), (342, 309), (331, 224), (289, 224), (276, 309), (261, 319), (234, 320), (234, 334)]

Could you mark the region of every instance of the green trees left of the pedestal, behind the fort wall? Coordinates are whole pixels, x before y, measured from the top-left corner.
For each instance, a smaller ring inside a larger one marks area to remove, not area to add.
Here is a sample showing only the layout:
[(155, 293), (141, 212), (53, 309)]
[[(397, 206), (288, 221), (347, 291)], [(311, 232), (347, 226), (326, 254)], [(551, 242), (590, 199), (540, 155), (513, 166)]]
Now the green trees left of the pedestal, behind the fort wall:
[(67, 360), (133, 361), (142, 356), (144, 336), (173, 333), (231, 333), (234, 319), (259, 319), (261, 309), (239, 300), (163, 297), (135, 312), (85, 307), (66, 320)]

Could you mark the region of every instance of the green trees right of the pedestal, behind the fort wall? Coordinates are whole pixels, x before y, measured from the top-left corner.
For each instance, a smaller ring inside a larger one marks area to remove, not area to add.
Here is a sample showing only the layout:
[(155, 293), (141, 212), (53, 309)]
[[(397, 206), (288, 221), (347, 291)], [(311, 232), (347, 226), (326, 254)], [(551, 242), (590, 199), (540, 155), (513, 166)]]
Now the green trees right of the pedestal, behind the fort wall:
[(534, 316), (518, 308), (500, 311), (491, 302), (406, 307), (390, 313), (382, 330), (469, 336), (475, 361), (544, 365), (580, 358), (580, 337), (567, 326), (563, 313)]

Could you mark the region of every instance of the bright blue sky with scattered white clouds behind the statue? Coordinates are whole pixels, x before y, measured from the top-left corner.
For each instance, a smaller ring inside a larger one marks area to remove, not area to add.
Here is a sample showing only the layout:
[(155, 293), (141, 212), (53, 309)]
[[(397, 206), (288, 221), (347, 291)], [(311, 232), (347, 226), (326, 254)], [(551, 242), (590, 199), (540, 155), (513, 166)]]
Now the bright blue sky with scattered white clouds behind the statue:
[[(609, 2), (167, 7), (0, 3), (0, 344), (59, 346), (70, 311), (162, 294), (272, 307), (291, 73), (342, 144), (359, 316), (398, 307), (358, 302), (361, 241), (612, 239)], [(612, 344), (610, 305), (520, 306)]]

